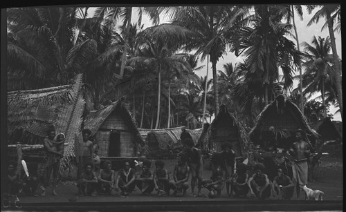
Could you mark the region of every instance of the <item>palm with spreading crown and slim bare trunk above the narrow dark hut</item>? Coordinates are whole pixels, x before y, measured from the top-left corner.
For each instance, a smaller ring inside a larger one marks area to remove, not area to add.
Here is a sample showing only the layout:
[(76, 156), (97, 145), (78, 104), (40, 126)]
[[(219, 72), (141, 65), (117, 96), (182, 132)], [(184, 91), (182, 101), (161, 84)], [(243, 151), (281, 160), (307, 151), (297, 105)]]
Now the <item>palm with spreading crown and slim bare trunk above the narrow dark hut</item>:
[(219, 111), (217, 61), (226, 53), (232, 28), (247, 10), (239, 6), (187, 6), (175, 9), (172, 24), (183, 26), (196, 33), (194, 37), (187, 39), (185, 50), (197, 50), (196, 54), (202, 54), (202, 60), (206, 55), (210, 56), (217, 115)]

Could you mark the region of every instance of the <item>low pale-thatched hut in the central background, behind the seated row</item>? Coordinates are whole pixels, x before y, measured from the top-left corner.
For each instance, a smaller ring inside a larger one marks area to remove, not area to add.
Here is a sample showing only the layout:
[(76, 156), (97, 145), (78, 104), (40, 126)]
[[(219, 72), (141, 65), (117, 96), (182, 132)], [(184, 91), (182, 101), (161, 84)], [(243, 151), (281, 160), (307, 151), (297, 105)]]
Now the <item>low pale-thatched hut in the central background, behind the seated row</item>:
[(167, 155), (170, 151), (179, 149), (181, 144), (181, 133), (184, 127), (165, 128), (152, 130), (147, 134), (146, 143), (149, 147), (149, 155)]

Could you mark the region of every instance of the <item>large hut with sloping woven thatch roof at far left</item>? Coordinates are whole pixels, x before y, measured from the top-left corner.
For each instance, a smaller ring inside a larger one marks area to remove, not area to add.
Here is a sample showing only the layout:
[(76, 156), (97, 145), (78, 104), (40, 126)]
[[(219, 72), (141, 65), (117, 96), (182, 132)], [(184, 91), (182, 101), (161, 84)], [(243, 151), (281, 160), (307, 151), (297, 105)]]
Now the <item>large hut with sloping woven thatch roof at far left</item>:
[(54, 126), (57, 133), (66, 136), (62, 167), (69, 166), (75, 156), (75, 135), (80, 131), (84, 105), (82, 74), (75, 77), (73, 85), (8, 92), (9, 154), (17, 154), (15, 144), (19, 142), (24, 157), (40, 156), (46, 131)]

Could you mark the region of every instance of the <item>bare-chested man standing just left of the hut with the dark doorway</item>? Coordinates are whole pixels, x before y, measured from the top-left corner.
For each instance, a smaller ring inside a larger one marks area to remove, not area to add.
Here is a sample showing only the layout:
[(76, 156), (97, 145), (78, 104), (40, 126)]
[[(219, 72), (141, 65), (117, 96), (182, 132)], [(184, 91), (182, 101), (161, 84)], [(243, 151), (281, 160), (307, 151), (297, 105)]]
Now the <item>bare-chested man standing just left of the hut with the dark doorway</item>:
[(81, 153), (79, 155), (79, 166), (78, 166), (78, 179), (80, 179), (80, 174), (83, 172), (83, 168), (86, 166), (86, 164), (92, 164), (92, 167), (94, 169), (93, 164), (93, 142), (89, 139), (89, 136), (91, 135), (91, 131), (89, 129), (84, 129), (82, 131), (83, 135), (83, 142), (82, 146), (80, 146)]

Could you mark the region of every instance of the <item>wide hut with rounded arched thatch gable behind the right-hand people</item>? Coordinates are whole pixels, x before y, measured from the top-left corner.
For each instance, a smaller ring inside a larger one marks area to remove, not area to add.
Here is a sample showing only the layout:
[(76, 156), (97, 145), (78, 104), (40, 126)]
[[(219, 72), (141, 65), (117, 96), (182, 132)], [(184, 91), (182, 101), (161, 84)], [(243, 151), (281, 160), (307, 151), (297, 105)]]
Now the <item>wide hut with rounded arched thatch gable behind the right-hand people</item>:
[(298, 106), (286, 99), (284, 95), (278, 95), (276, 99), (268, 104), (257, 116), (255, 126), (249, 133), (253, 144), (264, 145), (266, 135), (270, 126), (274, 127), (276, 139), (283, 147), (290, 146), (294, 142), (294, 134), (298, 128), (307, 133), (312, 144), (315, 144), (318, 133), (310, 128), (306, 117)]

